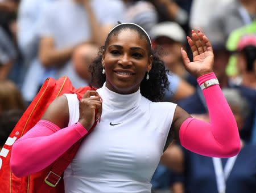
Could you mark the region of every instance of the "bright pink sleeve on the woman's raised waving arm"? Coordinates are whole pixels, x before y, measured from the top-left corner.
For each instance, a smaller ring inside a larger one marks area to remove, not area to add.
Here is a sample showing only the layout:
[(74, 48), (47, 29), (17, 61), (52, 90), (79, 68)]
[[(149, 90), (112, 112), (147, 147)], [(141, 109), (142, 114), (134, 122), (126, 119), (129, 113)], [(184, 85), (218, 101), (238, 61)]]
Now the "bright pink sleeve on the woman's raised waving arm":
[[(213, 73), (200, 76), (199, 85), (216, 78)], [(231, 157), (240, 151), (240, 136), (236, 119), (218, 84), (203, 89), (210, 123), (195, 118), (186, 119), (179, 131), (183, 147), (200, 155)]]

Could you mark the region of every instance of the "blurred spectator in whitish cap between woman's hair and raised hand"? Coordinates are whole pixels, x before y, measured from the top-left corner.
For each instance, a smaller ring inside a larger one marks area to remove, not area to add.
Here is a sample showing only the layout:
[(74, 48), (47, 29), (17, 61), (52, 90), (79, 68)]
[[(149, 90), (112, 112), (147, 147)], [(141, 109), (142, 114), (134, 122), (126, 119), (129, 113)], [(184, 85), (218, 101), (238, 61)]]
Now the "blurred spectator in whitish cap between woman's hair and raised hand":
[(163, 22), (156, 24), (150, 33), (153, 46), (163, 52), (161, 59), (170, 71), (168, 73), (168, 81), (171, 83), (170, 92), (165, 93), (164, 101), (177, 101), (191, 96), (195, 88), (186, 80), (191, 83), (195, 79), (191, 78), (192, 76), (185, 70), (180, 52), (186, 41), (185, 32), (176, 23)]

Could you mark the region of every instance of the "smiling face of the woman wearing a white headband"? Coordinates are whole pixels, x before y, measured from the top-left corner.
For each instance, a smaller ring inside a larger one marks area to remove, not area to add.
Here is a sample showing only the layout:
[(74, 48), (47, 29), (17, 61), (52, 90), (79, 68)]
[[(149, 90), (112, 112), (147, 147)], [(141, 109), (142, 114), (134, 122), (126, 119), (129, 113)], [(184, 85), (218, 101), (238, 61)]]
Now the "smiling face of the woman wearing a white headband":
[(103, 55), (106, 87), (121, 94), (138, 91), (151, 63), (145, 37), (130, 29), (119, 31), (110, 37)]

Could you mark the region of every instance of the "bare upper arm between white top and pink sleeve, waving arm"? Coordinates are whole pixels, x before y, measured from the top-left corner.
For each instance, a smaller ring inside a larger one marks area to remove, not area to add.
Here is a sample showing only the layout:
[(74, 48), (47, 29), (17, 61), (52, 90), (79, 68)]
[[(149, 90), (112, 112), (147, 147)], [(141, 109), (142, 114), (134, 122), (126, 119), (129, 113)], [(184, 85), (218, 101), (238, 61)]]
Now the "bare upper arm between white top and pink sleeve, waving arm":
[(175, 136), (177, 140), (179, 140), (179, 131), (180, 126), (185, 121), (185, 119), (191, 117), (190, 114), (187, 113), (184, 109), (180, 108), (180, 106), (176, 106), (175, 113), (174, 113), (174, 119), (172, 121), (172, 128), (175, 131)]

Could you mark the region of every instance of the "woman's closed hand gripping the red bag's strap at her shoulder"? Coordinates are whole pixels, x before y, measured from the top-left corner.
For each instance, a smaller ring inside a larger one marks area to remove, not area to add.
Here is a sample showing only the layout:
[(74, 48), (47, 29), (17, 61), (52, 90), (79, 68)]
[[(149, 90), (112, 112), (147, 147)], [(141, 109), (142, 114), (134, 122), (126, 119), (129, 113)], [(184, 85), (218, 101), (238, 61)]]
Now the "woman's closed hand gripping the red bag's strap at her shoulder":
[(79, 102), (79, 122), (87, 131), (98, 121), (102, 113), (102, 99), (96, 91), (86, 91)]

